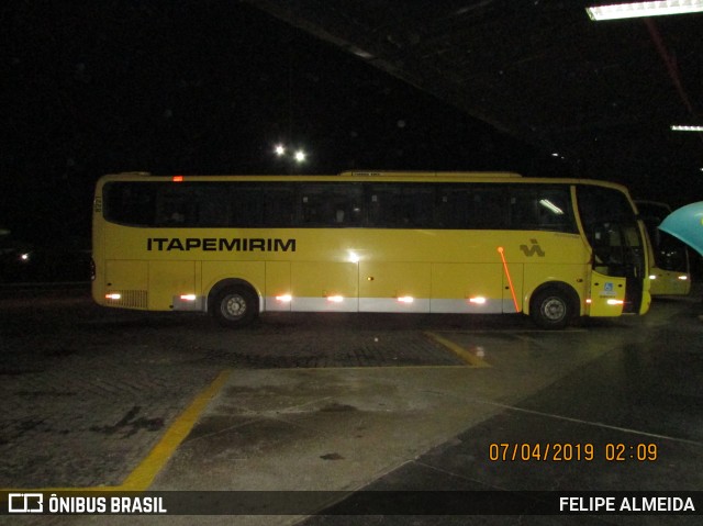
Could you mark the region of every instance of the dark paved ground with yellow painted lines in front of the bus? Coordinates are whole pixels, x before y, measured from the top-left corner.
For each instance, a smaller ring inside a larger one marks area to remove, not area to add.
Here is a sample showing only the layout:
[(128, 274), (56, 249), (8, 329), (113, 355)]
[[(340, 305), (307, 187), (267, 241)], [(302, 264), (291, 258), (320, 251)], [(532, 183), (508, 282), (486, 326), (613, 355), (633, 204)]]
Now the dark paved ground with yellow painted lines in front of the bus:
[[(333, 501), (323, 492), (699, 491), (701, 314), (694, 294), (562, 332), (521, 316), (369, 314), (268, 315), (232, 332), (204, 315), (101, 309), (83, 287), (3, 289), (0, 488), (303, 490)], [(438, 495), (438, 510), (427, 506), (439, 516), (304, 518), (293, 506), (196, 523), (515, 522), (443, 515)], [(522, 521), (566, 518), (696, 524)]]

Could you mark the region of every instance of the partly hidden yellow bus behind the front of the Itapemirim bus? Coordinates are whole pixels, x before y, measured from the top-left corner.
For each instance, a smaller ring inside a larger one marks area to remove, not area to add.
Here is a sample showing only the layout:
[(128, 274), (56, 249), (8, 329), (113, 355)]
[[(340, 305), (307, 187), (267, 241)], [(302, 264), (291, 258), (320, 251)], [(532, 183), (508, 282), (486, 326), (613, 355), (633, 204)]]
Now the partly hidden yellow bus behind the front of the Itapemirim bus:
[(658, 227), (671, 213), (668, 204), (635, 201), (647, 227), (650, 243), (649, 280), (651, 295), (685, 295), (691, 291), (689, 253), (683, 243)]

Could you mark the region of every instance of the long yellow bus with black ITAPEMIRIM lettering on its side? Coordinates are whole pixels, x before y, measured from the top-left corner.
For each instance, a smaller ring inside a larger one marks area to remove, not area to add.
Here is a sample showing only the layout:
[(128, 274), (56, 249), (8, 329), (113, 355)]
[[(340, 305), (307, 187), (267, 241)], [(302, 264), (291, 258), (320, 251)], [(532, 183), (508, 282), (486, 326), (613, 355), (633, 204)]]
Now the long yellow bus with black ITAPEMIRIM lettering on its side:
[(545, 328), (644, 314), (627, 190), (492, 172), (102, 177), (96, 302), (210, 312), (524, 313)]

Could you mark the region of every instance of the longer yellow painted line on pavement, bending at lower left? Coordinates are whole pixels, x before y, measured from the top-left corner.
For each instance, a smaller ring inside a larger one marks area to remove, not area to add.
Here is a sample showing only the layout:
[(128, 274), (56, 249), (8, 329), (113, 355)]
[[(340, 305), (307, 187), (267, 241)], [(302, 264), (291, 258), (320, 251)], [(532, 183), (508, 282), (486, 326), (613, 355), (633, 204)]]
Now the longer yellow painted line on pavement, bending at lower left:
[(205, 410), (210, 401), (222, 389), (222, 385), (230, 378), (230, 370), (225, 370), (217, 374), (210, 385), (208, 385), (190, 405), (176, 418), (170, 427), (166, 430), (161, 439), (149, 451), (144, 460), (130, 473), (130, 475), (120, 485), (105, 485), (93, 488), (33, 488), (33, 489), (8, 489), (2, 488), (0, 491), (37, 491), (37, 492), (69, 492), (69, 491), (146, 491), (154, 479), (159, 473), (166, 462), (171, 458), (178, 446), (186, 439), (190, 430), (198, 422), (198, 418)]

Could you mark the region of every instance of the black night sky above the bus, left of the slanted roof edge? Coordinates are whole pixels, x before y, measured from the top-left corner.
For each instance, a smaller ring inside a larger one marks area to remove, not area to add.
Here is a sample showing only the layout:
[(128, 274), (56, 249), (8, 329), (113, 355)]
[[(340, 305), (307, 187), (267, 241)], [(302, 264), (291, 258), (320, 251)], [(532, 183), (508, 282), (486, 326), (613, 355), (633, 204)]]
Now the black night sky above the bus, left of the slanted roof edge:
[(0, 227), (19, 236), (87, 237), (105, 172), (290, 171), (279, 141), (309, 174), (561, 170), (235, 0), (10, 0), (0, 21)]

